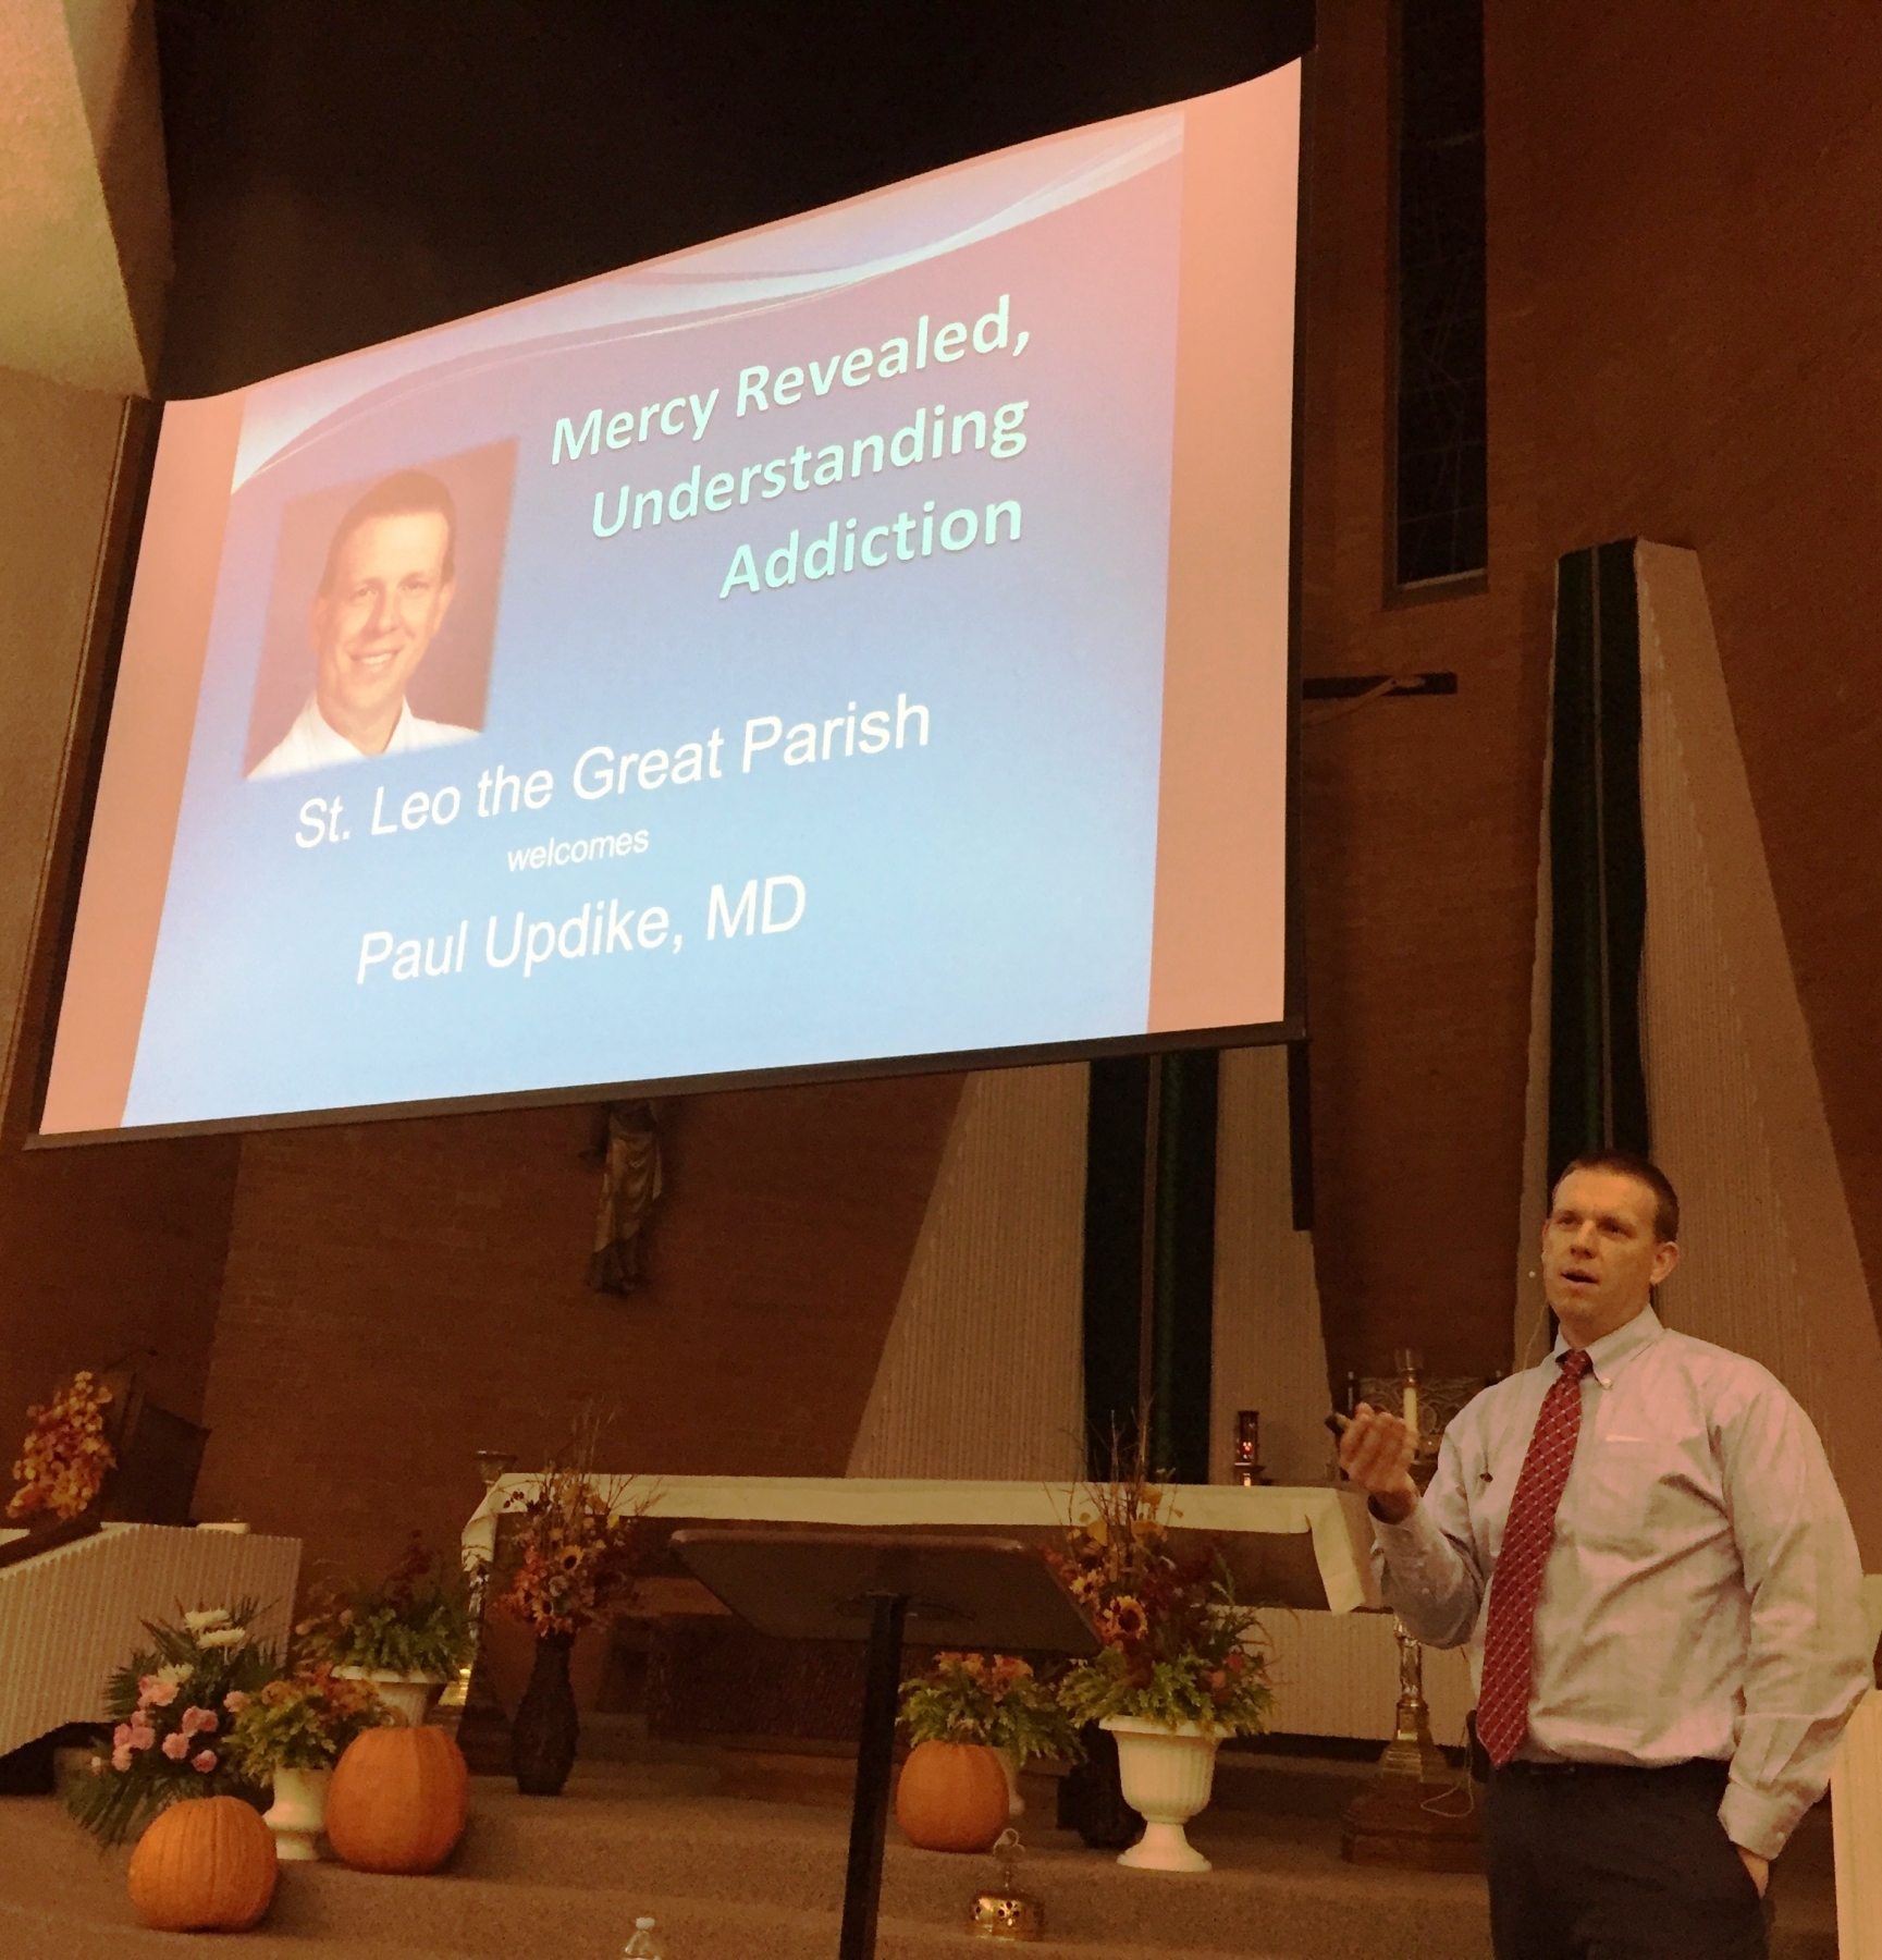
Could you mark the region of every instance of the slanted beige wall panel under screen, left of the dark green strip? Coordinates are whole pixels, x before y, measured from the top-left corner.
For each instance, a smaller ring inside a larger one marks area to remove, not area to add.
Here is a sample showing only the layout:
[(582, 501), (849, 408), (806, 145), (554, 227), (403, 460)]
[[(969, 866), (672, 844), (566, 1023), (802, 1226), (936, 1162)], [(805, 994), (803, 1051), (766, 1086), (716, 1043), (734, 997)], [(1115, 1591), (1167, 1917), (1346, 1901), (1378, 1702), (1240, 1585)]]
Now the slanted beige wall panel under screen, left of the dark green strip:
[(850, 1476), (1083, 1472), (1089, 1080), (967, 1078)]

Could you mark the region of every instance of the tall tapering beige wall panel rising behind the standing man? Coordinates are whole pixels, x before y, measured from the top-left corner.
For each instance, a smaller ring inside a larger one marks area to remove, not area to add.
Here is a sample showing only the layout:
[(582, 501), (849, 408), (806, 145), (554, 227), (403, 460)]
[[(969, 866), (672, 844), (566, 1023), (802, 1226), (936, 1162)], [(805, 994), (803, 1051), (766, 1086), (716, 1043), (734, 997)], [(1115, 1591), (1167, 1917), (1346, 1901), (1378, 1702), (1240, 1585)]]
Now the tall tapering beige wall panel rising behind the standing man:
[(1690, 551), (1635, 547), (1643, 1037), (1655, 1156), (1678, 1186), (1670, 1325), (1761, 1360), (1815, 1421), (1882, 1568), (1882, 1339)]

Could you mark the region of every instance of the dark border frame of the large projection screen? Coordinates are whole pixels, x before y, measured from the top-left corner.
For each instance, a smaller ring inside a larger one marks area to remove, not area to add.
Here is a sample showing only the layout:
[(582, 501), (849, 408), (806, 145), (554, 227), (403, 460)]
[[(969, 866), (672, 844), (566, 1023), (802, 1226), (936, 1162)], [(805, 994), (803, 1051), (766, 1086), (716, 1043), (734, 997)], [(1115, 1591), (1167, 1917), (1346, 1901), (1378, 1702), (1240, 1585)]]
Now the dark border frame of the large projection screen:
[[(82, 694), (92, 698), (84, 725), (74, 727), (72, 753), (82, 753), (82, 768), (67, 770), (67, 790), (61, 809), (65, 876), (57, 902), (41, 917), (35, 962), (43, 960), (43, 1005), (24, 1031), (22, 1051), (33, 1053), (31, 1092), (27, 1100), (29, 1151), (92, 1149), (112, 1143), (161, 1141), (180, 1137), (229, 1137), (284, 1129), (331, 1129), (349, 1123), (400, 1123), (443, 1115), (495, 1115), (509, 1109), (548, 1109), (570, 1103), (615, 1103), (664, 1096), (709, 1096), (738, 1090), (793, 1088), (821, 1082), (870, 1082), (901, 1076), (952, 1074), (987, 1068), (1036, 1068), (1056, 1062), (1099, 1060), (1106, 1056), (1171, 1054), (1195, 1049), (1253, 1049), (1304, 1047), (1306, 1021), (1306, 915), (1302, 890), (1300, 841), (1300, 576), (1302, 576), (1302, 453), (1304, 453), (1304, 394), (1306, 394), (1306, 237), (1312, 208), (1312, 125), (1316, 49), (1277, 59), (1269, 69), (1300, 63), (1300, 135), (1294, 171), (1294, 327), (1293, 327), (1293, 404), (1289, 457), (1289, 549), (1287, 549), (1287, 782), (1283, 786), (1283, 1015), (1279, 1021), (1230, 1023), (1222, 1027), (1155, 1029), (1144, 1035), (1106, 1039), (1032, 1043), (1001, 1049), (960, 1049), (924, 1054), (868, 1056), (838, 1062), (805, 1062), (776, 1068), (719, 1070), (689, 1076), (650, 1076), (625, 1082), (584, 1082), (560, 1088), (505, 1090), (486, 1096), (445, 1096), (415, 1102), (347, 1103), (325, 1109), (290, 1109), (262, 1115), (208, 1117), (188, 1123), (118, 1125), (88, 1131), (43, 1131), (41, 1119), (53, 1074), (53, 1047), (71, 972), (72, 939), (78, 923), (78, 902), (84, 890), (84, 866), (90, 855), (92, 825), (104, 774), (106, 739), (116, 710), (118, 674), (129, 623), (131, 592), (137, 580), (151, 478), (157, 468), (157, 449), (163, 435), (163, 402), (149, 404), (137, 417), (135, 439), (141, 453), (135, 468), (119, 468), (106, 515), (106, 541), (119, 523), (127, 537), (116, 553), (116, 578), (106, 568), (112, 592), (110, 608), (94, 613), (92, 645), (82, 659)], [(1257, 76), (1244, 76), (1255, 80)], [(1181, 100), (1181, 98), (1179, 98)], [(1075, 127), (1075, 125), (1073, 125)], [(887, 188), (887, 186), (883, 186)], [(795, 214), (793, 214), (795, 216)], [(781, 220), (789, 223), (791, 220)], [(74, 808), (76, 806), (76, 808)]]

